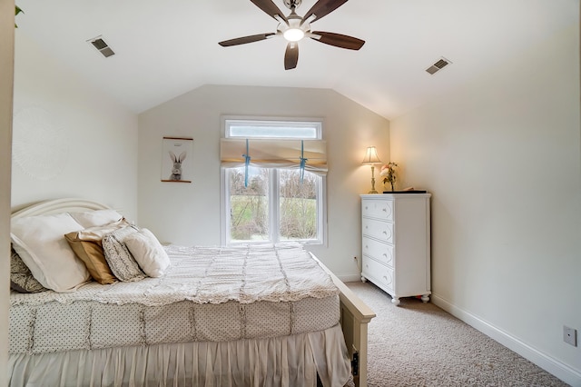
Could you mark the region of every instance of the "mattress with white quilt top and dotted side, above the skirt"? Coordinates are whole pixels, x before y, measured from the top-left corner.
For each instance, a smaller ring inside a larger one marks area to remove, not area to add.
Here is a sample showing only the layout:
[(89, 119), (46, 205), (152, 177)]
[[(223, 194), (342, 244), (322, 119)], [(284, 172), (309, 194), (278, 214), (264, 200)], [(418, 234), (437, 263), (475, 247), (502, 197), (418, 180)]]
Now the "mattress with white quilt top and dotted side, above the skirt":
[(317, 332), (340, 321), (339, 290), (298, 243), (168, 246), (160, 278), (12, 293), (10, 353), (232, 342)]

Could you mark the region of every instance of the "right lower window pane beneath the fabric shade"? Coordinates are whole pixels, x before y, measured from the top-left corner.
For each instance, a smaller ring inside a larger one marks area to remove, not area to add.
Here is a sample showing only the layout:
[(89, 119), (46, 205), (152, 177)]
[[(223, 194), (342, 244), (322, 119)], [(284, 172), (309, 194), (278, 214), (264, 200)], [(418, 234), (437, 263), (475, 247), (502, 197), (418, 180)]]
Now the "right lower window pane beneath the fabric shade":
[(320, 177), (281, 169), (281, 241), (317, 239), (317, 193)]

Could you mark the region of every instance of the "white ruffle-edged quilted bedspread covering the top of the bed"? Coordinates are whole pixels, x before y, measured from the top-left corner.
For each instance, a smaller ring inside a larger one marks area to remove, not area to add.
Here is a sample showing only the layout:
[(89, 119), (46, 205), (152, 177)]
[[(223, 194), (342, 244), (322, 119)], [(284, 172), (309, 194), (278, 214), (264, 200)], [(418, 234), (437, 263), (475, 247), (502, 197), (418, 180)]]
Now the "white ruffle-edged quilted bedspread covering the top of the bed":
[(166, 251), (172, 265), (162, 277), (136, 283), (87, 283), (74, 293), (13, 293), (10, 303), (278, 303), (339, 294), (330, 275), (299, 243), (231, 248), (167, 246)]

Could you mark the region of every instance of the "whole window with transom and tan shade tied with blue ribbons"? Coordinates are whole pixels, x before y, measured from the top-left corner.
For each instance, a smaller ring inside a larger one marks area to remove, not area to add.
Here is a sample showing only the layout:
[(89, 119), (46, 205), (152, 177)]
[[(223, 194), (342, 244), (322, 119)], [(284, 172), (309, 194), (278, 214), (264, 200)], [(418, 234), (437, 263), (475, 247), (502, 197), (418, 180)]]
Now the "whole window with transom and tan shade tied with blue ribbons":
[(225, 128), (222, 243), (324, 243), (320, 122), (226, 120)]

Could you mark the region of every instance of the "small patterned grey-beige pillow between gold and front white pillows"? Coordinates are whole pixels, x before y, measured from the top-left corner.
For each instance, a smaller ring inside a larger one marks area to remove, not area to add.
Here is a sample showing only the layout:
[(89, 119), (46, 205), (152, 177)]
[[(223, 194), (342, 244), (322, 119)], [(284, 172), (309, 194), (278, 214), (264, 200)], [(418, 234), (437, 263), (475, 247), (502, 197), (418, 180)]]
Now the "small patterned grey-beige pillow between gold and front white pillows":
[(133, 255), (123, 243), (125, 238), (132, 233), (137, 233), (137, 227), (126, 226), (106, 234), (101, 241), (105, 260), (109, 263), (115, 277), (123, 282), (139, 281), (145, 278), (139, 264), (135, 262)]

